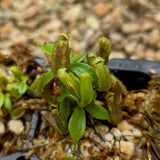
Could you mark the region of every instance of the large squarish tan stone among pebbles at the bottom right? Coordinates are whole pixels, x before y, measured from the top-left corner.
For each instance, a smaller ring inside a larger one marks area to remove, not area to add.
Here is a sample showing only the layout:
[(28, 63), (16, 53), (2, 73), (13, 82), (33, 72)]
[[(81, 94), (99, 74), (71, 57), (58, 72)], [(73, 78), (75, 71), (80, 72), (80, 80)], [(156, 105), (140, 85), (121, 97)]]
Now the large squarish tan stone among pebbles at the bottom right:
[(134, 143), (129, 141), (120, 141), (120, 152), (121, 156), (125, 160), (129, 160), (134, 153)]

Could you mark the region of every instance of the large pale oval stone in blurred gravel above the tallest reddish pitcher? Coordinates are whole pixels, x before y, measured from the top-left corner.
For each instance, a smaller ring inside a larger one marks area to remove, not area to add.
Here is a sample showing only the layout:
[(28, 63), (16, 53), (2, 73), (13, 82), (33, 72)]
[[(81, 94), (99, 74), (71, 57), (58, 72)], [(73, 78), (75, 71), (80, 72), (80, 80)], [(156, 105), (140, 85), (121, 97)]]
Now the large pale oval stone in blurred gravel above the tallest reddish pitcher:
[(81, 17), (81, 14), (82, 14), (82, 6), (75, 5), (65, 12), (63, 20), (66, 22), (75, 22)]

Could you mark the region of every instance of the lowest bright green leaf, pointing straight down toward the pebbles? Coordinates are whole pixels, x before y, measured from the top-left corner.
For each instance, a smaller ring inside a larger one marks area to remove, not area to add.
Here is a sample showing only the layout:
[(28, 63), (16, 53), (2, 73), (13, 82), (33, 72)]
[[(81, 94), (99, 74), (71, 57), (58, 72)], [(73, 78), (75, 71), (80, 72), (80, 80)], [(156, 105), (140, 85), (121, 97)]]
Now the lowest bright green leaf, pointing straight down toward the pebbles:
[(86, 117), (84, 109), (76, 107), (69, 120), (69, 133), (74, 143), (77, 143), (83, 136), (85, 127), (86, 127)]

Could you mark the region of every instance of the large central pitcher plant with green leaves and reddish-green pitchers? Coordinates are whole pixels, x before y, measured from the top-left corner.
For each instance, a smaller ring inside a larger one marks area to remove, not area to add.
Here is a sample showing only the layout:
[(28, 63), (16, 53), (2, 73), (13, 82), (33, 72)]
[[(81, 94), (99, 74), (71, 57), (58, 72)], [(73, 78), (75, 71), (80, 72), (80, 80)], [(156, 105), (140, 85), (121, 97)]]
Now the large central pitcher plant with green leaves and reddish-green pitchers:
[[(120, 98), (123, 85), (106, 66), (110, 54), (106, 38), (99, 39), (99, 56), (93, 52), (72, 54), (69, 37), (64, 33), (56, 43), (45, 44), (41, 49), (51, 55), (51, 70), (37, 78), (31, 89), (50, 104), (52, 125), (60, 133), (69, 132), (76, 144), (85, 131), (86, 112), (100, 120), (112, 122), (116, 118), (114, 101)], [(53, 94), (56, 88), (59, 94)], [(106, 99), (108, 110), (96, 104), (99, 95)]]

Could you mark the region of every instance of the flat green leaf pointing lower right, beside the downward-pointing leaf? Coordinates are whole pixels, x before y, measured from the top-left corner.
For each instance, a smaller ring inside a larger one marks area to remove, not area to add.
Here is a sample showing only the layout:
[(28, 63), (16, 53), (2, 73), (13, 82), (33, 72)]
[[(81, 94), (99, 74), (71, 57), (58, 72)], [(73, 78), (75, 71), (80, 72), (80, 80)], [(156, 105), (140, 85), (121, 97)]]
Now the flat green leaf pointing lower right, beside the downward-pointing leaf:
[(109, 120), (108, 111), (99, 105), (96, 104), (89, 104), (85, 107), (86, 111), (91, 114), (94, 118), (100, 120)]

